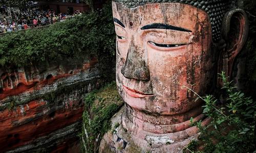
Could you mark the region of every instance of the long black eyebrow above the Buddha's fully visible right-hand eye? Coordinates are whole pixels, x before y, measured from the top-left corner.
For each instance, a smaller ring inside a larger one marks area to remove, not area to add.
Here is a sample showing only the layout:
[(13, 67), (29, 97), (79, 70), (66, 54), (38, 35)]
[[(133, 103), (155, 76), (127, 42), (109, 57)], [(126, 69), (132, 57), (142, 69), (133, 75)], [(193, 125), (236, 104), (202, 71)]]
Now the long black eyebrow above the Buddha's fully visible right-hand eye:
[(146, 29), (170, 29), (170, 30), (183, 31), (183, 32), (192, 32), (191, 30), (187, 30), (184, 28), (175, 27), (173, 25), (168, 25), (163, 23), (147, 24), (141, 28), (141, 30), (146, 30)]

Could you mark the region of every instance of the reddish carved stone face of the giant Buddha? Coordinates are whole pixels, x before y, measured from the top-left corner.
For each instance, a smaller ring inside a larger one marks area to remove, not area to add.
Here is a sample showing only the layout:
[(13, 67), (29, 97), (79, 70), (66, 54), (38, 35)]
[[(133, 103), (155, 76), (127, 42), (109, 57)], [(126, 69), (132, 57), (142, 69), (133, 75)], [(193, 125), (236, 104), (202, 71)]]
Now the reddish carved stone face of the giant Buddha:
[(116, 81), (132, 108), (161, 115), (200, 107), (216, 71), (207, 13), (180, 3), (127, 8), (113, 2)]

